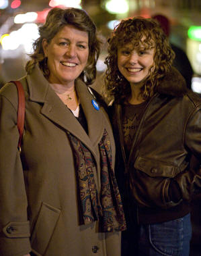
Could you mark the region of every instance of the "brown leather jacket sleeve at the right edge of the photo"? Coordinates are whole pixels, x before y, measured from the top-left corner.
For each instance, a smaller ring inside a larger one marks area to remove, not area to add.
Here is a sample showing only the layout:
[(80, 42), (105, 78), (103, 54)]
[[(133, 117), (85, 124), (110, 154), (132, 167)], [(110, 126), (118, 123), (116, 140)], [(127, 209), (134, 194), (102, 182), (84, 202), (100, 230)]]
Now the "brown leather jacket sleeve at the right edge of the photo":
[(185, 145), (192, 153), (190, 170), (175, 177), (182, 193), (182, 199), (190, 201), (192, 195), (201, 193), (201, 103), (191, 114), (186, 132)]

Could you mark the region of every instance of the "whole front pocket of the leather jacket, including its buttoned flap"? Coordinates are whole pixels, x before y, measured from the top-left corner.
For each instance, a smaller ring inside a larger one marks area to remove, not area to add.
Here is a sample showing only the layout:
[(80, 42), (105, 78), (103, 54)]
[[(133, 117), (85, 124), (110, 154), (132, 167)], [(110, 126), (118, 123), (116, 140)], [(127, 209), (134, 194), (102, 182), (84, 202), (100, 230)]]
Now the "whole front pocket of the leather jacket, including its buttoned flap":
[(129, 182), (132, 196), (142, 207), (169, 208), (179, 202), (169, 201), (169, 184), (179, 172), (179, 167), (150, 159), (137, 157), (134, 172), (130, 172)]

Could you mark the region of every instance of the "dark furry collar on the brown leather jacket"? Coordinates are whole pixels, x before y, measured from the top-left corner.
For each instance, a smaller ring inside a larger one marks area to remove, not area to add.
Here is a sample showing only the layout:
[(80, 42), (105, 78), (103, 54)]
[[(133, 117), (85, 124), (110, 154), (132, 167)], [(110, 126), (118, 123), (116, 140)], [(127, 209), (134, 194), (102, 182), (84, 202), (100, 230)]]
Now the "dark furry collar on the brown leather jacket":
[(170, 72), (163, 76), (155, 91), (161, 95), (182, 97), (188, 92), (188, 88), (184, 77), (172, 67)]

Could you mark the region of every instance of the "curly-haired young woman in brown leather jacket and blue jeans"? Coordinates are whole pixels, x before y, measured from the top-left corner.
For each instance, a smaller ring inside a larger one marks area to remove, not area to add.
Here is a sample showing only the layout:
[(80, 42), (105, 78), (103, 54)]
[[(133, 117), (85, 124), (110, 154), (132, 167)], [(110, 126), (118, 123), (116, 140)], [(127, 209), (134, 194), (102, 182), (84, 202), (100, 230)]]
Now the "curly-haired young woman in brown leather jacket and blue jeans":
[(108, 53), (106, 93), (114, 98), (116, 175), (128, 221), (122, 255), (187, 256), (190, 200), (201, 191), (200, 97), (171, 67), (174, 53), (155, 20), (122, 20)]

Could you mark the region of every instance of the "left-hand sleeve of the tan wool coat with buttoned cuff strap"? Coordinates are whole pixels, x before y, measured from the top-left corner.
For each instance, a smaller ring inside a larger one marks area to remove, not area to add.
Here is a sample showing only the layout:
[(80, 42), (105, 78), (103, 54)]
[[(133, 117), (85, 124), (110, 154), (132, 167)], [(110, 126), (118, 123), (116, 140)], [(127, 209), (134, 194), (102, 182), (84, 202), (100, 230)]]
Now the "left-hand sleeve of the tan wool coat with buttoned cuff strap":
[[(15, 86), (0, 95), (0, 255), (22, 256), (31, 251), (28, 202), (22, 163), (17, 150), (17, 93)], [(15, 95), (13, 102), (5, 97)]]

